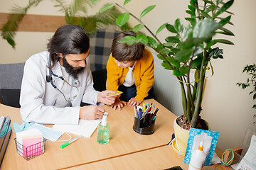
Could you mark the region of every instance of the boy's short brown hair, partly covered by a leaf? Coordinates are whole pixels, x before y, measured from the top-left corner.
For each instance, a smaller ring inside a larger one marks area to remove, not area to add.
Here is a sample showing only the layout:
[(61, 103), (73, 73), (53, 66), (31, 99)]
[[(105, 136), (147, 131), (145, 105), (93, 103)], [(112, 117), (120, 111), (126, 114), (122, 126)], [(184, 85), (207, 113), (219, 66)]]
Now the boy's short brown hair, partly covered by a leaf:
[(137, 34), (133, 31), (123, 31), (117, 35), (111, 47), (112, 57), (119, 62), (135, 61), (139, 60), (144, 55), (145, 46), (140, 43), (133, 45), (127, 45), (126, 43), (120, 43), (119, 40), (123, 40), (125, 36), (136, 37)]

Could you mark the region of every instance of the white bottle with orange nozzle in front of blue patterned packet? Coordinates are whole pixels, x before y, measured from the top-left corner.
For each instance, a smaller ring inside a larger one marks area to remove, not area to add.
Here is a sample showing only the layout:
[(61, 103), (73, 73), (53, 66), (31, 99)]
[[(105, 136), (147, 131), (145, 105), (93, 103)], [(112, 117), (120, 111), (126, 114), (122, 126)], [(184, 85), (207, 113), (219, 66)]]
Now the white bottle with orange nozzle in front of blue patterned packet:
[(188, 170), (203, 169), (203, 164), (206, 160), (206, 154), (203, 152), (203, 142), (200, 142), (198, 149), (192, 153), (191, 162)]

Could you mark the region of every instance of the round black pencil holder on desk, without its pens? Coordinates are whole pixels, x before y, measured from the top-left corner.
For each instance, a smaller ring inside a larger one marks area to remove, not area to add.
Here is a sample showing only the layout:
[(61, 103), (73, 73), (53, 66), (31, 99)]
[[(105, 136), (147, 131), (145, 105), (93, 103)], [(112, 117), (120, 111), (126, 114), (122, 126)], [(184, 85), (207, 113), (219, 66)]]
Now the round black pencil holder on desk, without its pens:
[[(145, 115), (145, 120), (147, 120), (147, 116), (150, 116), (150, 114)], [(144, 118), (139, 120), (139, 118), (134, 116), (133, 130), (142, 135), (151, 135), (154, 133), (155, 121), (156, 120), (144, 121)]]

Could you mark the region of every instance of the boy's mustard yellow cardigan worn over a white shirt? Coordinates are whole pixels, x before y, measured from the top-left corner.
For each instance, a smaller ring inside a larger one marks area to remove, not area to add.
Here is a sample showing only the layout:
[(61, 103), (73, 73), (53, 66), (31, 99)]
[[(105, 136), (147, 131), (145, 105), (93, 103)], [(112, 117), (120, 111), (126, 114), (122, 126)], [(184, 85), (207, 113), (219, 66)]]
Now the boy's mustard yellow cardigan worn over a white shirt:
[[(118, 87), (123, 84), (128, 70), (128, 68), (118, 67), (117, 63), (114, 62), (114, 57), (110, 54), (110, 58), (107, 61), (106, 89), (117, 91)], [(133, 72), (137, 88), (137, 96), (135, 98), (143, 101), (154, 84), (154, 58), (146, 48), (144, 56), (137, 60)]]

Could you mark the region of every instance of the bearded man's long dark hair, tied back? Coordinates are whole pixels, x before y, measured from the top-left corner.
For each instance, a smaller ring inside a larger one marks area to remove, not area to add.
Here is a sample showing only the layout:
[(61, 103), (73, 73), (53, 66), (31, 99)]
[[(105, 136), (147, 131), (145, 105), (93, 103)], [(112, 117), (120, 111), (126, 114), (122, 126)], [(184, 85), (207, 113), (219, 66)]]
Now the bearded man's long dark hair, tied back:
[(89, 47), (90, 39), (82, 27), (76, 25), (61, 26), (55, 31), (53, 38), (50, 38), (47, 44), (52, 62), (50, 68), (53, 68), (60, 59), (58, 53), (61, 53), (63, 57), (68, 54), (77, 55), (86, 53)]

